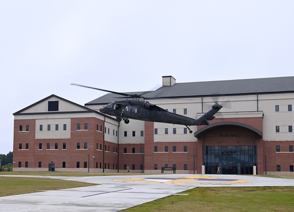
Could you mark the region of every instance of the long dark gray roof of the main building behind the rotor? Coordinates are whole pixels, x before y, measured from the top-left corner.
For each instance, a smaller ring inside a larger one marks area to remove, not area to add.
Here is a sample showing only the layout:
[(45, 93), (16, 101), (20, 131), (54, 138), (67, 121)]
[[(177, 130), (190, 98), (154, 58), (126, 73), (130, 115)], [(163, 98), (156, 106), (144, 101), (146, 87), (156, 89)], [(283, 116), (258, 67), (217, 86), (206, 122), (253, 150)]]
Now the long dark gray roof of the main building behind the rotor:
[[(132, 92), (132, 94), (142, 94), (145, 97), (171, 97), (180, 98), (187, 96), (214, 96), (214, 95), (234, 95), (250, 93), (275, 93), (294, 92), (294, 77), (272, 77), (259, 79), (235, 79), (208, 82), (184, 82), (175, 83), (172, 86), (163, 86), (155, 91), (147, 93)], [(89, 104), (105, 104), (111, 101), (121, 100), (117, 94), (106, 94)]]

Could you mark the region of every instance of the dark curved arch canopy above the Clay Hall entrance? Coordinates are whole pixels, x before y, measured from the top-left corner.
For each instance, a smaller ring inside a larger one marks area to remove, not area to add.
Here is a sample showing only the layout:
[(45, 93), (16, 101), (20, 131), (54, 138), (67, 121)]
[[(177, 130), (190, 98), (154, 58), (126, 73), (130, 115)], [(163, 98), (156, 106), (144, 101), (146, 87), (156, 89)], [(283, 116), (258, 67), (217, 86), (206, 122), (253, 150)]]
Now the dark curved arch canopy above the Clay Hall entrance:
[[(212, 126), (212, 127), (211, 127)], [(217, 122), (217, 123), (213, 123), (210, 125), (207, 125), (203, 128), (201, 128), (200, 130), (197, 130), (194, 133), (194, 137), (196, 138), (201, 138), (202, 133), (206, 134), (212, 130), (216, 130), (216, 129), (220, 129), (220, 128), (227, 128), (227, 127), (232, 127), (232, 128), (240, 128), (240, 129), (244, 129), (244, 130), (248, 130), (252, 133), (255, 133), (255, 135), (258, 135), (260, 138), (262, 136), (262, 132), (248, 124), (244, 124), (244, 123), (240, 123), (240, 122), (234, 122), (234, 121), (222, 121), (222, 122)]]

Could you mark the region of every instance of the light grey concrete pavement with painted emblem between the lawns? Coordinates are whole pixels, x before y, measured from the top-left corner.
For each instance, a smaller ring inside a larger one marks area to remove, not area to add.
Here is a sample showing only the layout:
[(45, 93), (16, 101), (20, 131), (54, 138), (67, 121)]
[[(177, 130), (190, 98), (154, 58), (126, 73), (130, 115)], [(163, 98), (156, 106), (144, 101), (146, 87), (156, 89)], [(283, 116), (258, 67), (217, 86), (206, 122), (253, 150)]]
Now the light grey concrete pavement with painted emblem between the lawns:
[(120, 211), (195, 187), (294, 186), (294, 179), (221, 174), (3, 177), (46, 177), (101, 185), (0, 197), (0, 211)]

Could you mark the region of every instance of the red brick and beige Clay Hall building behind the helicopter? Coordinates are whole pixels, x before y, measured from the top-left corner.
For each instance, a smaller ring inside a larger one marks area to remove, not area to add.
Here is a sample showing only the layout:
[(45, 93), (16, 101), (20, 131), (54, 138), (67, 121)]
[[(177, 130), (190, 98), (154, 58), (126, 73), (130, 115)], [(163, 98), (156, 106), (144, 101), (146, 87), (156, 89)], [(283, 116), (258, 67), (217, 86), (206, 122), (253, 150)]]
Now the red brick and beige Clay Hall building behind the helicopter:
[[(81, 106), (56, 95), (14, 113), (14, 171), (293, 174), (294, 77), (176, 83), (144, 96), (163, 109), (199, 118), (223, 108), (210, 125), (130, 120), (99, 108), (120, 99), (106, 94)], [(141, 92), (136, 92), (140, 94)], [(170, 99), (160, 97), (172, 97)], [(188, 131), (188, 133), (187, 133)]]

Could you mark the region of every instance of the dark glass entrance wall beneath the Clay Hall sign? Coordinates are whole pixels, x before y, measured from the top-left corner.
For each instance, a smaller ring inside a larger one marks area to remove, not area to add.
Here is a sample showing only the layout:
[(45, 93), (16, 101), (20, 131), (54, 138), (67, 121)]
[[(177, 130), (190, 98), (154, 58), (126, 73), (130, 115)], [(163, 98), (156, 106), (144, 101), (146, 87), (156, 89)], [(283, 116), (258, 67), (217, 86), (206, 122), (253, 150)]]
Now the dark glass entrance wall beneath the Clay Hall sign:
[(253, 174), (253, 166), (257, 167), (257, 146), (205, 146), (204, 165), (205, 174), (217, 174), (218, 166), (220, 174), (233, 174), (234, 169), (237, 174)]

